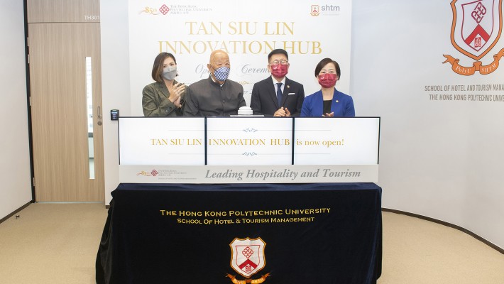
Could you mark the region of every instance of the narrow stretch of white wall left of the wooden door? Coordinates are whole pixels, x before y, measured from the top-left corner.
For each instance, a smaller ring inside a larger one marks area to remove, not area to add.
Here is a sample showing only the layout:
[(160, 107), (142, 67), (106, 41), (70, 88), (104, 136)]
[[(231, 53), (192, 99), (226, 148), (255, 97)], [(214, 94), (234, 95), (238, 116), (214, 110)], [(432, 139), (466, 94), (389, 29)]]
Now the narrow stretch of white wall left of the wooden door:
[(23, 1), (0, 1), (0, 219), (31, 201)]

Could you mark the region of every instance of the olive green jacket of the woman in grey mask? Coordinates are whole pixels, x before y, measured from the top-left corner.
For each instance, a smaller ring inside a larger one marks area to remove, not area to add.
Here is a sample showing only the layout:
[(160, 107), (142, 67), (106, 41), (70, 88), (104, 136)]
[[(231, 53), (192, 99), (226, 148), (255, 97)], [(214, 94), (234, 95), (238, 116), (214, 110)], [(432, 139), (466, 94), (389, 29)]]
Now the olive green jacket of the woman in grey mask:
[[(174, 81), (177, 84), (177, 81)], [(180, 104), (178, 108), (170, 99), (170, 92), (165, 83), (153, 82), (143, 88), (142, 107), (144, 116), (182, 116), (184, 109), (185, 90), (180, 94)]]

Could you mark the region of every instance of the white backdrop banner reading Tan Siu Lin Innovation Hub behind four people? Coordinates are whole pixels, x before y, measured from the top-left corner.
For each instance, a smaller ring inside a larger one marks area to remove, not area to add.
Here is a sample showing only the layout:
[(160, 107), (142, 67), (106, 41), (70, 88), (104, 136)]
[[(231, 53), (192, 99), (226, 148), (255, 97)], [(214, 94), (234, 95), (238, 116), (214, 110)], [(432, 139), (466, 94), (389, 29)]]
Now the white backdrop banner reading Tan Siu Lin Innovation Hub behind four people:
[(270, 76), (268, 53), (289, 54), (287, 77), (320, 89), (314, 70), (323, 58), (341, 67), (339, 91), (349, 94), (351, 0), (341, 1), (129, 1), (131, 115), (143, 116), (142, 89), (153, 82), (154, 58), (175, 55), (177, 81), (191, 84), (209, 76), (213, 50), (229, 53), (229, 79), (243, 85), (250, 104), (255, 82)]

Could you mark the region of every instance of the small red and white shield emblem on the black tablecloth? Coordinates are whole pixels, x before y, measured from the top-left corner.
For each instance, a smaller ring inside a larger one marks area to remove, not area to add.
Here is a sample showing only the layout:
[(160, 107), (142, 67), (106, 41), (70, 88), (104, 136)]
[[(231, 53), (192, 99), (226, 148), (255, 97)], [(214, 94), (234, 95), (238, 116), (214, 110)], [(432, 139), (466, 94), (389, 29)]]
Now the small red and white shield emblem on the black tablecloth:
[(264, 268), (266, 243), (261, 238), (235, 238), (229, 246), (231, 246), (231, 267), (240, 275), (249, 278)]

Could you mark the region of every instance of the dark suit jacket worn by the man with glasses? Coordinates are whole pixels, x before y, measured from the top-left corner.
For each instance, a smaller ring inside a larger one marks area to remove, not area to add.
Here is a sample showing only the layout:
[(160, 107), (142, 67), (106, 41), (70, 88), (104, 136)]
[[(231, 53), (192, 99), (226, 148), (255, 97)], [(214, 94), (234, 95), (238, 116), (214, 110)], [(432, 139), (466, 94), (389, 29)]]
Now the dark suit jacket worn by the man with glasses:
[(286, 107), (291, 116), (299, 116), (302, 102), (305, 99), (305, 89), (302, 84), (285, 77), (282, 105), (278, 105), (277, 92), (271, 76), (253, 84), (251, 108), (254, 114), (273, 116), (280, 107)]

